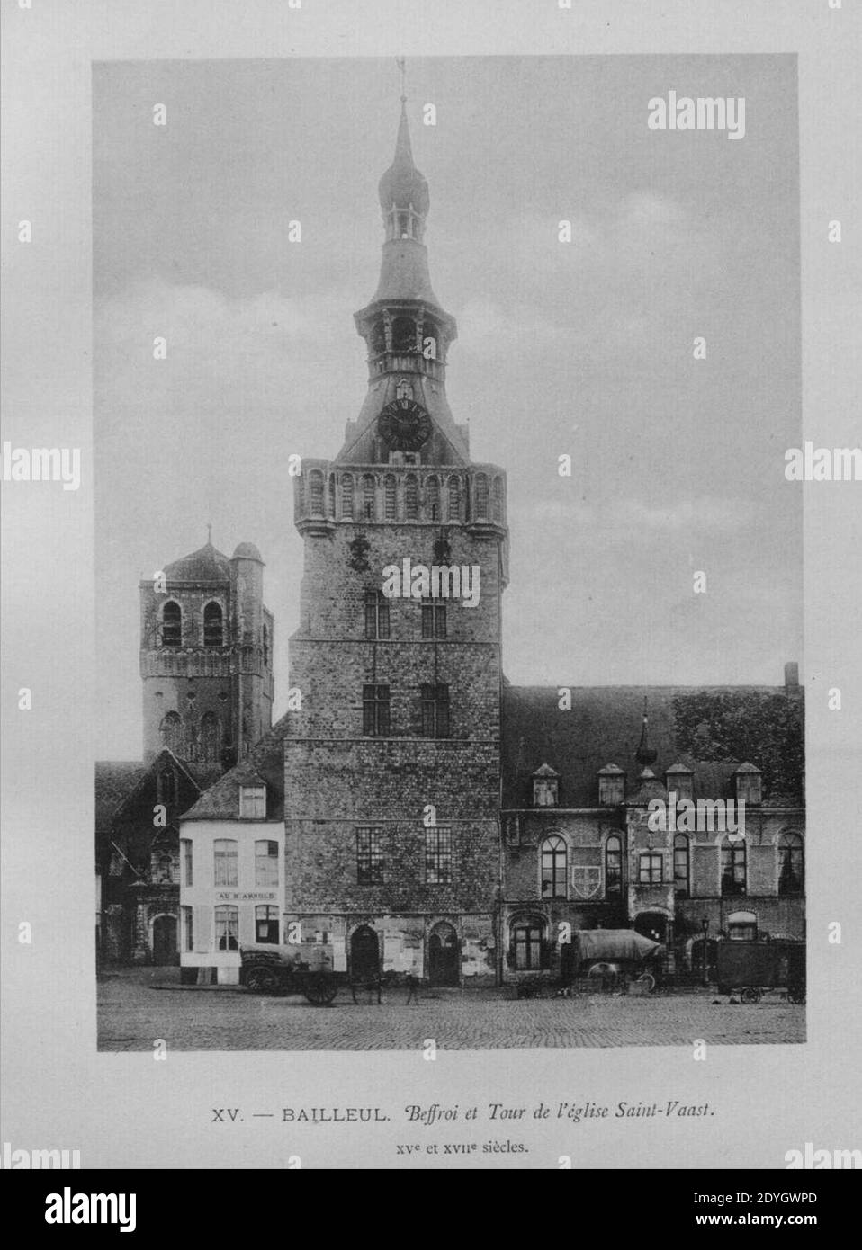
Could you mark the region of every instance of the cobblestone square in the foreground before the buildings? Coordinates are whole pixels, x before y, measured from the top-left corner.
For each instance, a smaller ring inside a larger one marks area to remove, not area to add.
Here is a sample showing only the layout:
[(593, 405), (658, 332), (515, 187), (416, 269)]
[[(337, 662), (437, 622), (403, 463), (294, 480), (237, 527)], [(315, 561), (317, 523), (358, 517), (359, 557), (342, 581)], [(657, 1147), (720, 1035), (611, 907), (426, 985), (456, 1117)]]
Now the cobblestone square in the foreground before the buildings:
[[(384, 991), (383, 1005), (347, 989), (332, 1008), (240, 989), (180, 989), (173, 969), (134, 969), (99, 980), (99, 1049), (444, 1050), (515, 1046), (687, 1046), (804, 1041), (804, 1006), (776, 994), (753, 1006), (713, 1005), (714, 992), (513, 1000), (500, 990)], [(166, 986), (158, 989), (156, 986)]]

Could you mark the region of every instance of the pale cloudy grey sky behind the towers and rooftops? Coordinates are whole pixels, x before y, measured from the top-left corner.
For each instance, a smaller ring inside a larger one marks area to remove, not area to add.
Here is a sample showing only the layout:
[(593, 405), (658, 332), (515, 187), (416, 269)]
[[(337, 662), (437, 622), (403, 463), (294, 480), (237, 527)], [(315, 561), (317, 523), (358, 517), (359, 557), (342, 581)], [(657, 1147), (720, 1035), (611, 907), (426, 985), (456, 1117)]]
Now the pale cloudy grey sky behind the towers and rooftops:
[[(744, 139), (649, 130), (671, 90), (744, 96)], [(407, 94), (449, 402), (508, 474), (507, 676), (779, 684), (803, 659), (794, 58), (429, 58)], [(138, 581), (208, 522), (263, 554), (284, 709), (288, 456), (334, 456), (362, 406), (398, 95), (392, 60), (94, 66), (100, 758), (140, 756)]]

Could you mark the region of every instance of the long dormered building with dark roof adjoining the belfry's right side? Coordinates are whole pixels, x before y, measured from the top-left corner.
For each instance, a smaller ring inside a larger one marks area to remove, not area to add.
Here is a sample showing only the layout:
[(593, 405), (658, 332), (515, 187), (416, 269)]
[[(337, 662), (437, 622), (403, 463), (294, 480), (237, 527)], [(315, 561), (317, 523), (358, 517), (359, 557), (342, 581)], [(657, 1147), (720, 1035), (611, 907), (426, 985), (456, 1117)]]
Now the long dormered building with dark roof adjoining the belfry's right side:
[[(644, 699), (652, 728), (644, 716), (636, 745)], [(694, 699), (704, 720), (692, 742), (686, 726)], [(667, 945), (668, 968), (679, 975), (697, 971), (704, 932), (707, 941), (803, 940), (802, 710), (796, 682), (697, 691), (507, 688), (505, 979), (577, 975), (567, 942), (579, 929), (636, 929)], [(714, 746), (703, 734), (711, 715)], [(766, 772), (738, 755), (753, 745), (741, 735), (758, 721)], [(603, 789), (608, 779), (613, 790)], [(741, 796), (748, 796), (742, 818), (732, 806)], [(688, 800), (711, 800), (699, 826)], [(676, 825), (653, 816), (657, 802), (664, 814), (676, 809)]]

